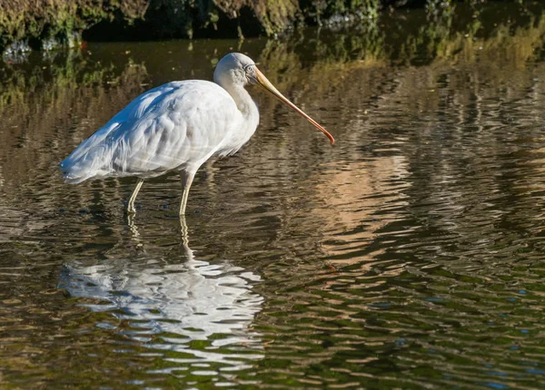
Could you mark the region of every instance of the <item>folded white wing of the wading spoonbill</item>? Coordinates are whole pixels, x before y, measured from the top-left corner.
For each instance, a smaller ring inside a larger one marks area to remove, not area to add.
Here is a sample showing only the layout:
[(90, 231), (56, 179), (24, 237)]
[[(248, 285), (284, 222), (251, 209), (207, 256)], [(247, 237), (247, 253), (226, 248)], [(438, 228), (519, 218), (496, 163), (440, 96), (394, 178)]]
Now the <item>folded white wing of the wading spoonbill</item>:
[(233, 98), (205, 81), (167, 83), (134, 99), (63, 162), (68, 182), (196, 170), (242, 121)]

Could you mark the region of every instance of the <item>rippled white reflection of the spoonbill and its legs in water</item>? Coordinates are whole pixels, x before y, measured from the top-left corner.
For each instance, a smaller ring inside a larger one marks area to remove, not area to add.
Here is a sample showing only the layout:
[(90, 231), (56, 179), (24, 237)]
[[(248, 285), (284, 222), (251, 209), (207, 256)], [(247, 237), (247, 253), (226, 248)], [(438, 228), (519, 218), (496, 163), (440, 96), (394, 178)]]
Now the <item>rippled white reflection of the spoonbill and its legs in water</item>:
[[(129, 228), (142, 243), (132, 220)], [(181, 242), (183, 256), (175, 261), (144, 253), (100, 264), (66, 264), (60, 286), (74, 297), (100, 299), (86, 306), (128, 320), (131, 327), (124, 334), (144, 346), (178, 352), (169, 354), (170, 362), (216, 363), (231, 371), (263, 358), (261, 337), (251, 329), (263, 305), (263, 297), (253, 292), (260, 277), (228, 262), (196, 259), (184, 220)]]

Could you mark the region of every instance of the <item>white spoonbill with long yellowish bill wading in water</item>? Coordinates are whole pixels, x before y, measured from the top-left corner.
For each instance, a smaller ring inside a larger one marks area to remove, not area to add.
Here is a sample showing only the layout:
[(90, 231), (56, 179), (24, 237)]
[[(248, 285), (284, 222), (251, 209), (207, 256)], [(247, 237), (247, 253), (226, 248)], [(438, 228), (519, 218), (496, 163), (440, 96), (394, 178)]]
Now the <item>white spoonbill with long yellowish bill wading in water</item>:
[(279, 93), (248, 56), (225, 55), (213, 81), (166, 83), (138, 96), (60, 163), (65, 181), (135, 176), (138, 181), (127, 205), (127, 211), (134, 212), (144, 179), (178, 171), (183, 215), (203, 162), (235, 153), (255, 132), (259, 112), (244, 89), (251, 84), (272, 93), (334, 142), (329, 132)]

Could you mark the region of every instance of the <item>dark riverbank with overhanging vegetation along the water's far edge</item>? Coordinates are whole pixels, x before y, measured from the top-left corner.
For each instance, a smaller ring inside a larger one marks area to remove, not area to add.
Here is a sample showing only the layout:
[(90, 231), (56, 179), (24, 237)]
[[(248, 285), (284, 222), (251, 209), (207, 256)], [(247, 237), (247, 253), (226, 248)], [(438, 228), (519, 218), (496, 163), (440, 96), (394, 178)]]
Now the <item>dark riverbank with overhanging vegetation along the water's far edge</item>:
[[(470, 4), (479, 14), (481, 2)], [(408, 7), (427, 10), (425, 26), (457, 5), (454, 0), (0, 0), (0, 53), (16, 56), (83, 41), (276, 36), (304, 25), (368, 30), (381, 15)]]

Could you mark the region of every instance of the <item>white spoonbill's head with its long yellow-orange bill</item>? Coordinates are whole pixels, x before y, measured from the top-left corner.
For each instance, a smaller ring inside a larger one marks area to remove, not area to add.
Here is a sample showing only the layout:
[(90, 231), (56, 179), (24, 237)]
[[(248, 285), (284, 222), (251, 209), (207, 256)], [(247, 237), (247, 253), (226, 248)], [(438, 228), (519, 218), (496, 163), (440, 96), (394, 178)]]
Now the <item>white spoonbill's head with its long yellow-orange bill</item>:
[(248, 84), (258, 85), (263, 88), (264, 91), (271, 93), (277, 99), (284, 104), (292, 108), (293, 111), (299, 113), (308, 122), (311, 122), (318, 130), (323, 132), (332, 143), (335, 142), (332, 134), (327, 132), (318, 122), (314, 121), (306, 113), (297, 107), (295, 104), (285, 98), (272, 83), (261, 73), (261, 71), (255, 66), (252, 58), (240, 53), (230, 53), (225, 55), (220, 62), (216, 65), (216, 69), (213, 73), (213, 81), (222, 86), (225, 85), (241, 85)]

